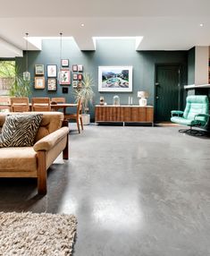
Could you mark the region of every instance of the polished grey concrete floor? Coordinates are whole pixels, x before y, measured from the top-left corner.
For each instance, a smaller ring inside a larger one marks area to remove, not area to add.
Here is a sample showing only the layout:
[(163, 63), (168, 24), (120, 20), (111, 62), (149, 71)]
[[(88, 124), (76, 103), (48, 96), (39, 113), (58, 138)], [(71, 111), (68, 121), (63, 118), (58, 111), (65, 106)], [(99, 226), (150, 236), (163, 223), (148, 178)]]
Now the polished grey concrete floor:
[(0, 210), (75, 214), (73, 256), (210, 255), (210, 139), (178, 129), (71, 131), (47, 195), (34, 180), (0, 179)]

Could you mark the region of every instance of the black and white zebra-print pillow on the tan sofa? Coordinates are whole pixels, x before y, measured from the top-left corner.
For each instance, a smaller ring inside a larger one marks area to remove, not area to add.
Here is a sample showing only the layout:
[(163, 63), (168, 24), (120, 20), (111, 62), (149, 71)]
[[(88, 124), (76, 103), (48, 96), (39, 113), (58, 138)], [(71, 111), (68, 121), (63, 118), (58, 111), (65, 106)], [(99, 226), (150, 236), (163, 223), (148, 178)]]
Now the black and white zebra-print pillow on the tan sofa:
[(33, 146), (42, 116), (43, 114), (7, 115), (0, 134), (0, 148)]

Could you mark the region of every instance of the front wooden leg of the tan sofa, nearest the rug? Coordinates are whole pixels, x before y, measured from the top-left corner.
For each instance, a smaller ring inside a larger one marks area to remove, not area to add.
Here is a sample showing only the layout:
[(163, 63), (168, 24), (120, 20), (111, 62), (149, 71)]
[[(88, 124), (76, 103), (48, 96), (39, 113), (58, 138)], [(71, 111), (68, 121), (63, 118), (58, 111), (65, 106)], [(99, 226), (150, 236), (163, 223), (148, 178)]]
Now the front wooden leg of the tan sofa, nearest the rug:
[(38, 151), (38, 193), (46, 194), (46, 151)]

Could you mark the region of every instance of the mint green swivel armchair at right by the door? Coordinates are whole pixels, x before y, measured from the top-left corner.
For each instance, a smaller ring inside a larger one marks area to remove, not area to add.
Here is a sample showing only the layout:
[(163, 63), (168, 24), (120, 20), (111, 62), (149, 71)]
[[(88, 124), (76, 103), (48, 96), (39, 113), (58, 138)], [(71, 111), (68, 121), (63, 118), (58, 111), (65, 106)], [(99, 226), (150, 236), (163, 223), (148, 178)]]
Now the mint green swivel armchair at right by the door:
[(207, 128), (209, 121), (209, 101), (206, 95), (191, 95), (187, 97), (184, 111), (172, 110), (172, 123), (189, 126), (189, 129), (181, 129), (179, 132), (197, 133), (193, 127)]

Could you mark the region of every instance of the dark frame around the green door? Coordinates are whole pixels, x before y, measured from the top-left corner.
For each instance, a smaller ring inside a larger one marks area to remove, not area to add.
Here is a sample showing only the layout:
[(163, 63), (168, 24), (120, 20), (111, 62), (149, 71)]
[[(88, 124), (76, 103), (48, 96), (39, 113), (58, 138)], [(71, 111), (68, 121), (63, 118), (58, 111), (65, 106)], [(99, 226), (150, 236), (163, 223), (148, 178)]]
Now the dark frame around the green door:
[(178, 106), (178, 108), (180, 109), (174, 109), (174, 110), (181, 110), (181, 107), (182, 107), (182, 102), (183, 102), (183, 99), (182, 99), (182, 91), (183, 91), (183, 85), (182, 85), (182, 64), (180, 63), (157, 63), (155, 64), (155, 78), (154, 78), (154, 123), (155, 123), (155, 117), (156, 117), (156, 79), (157, 79), (157, 67), (158, 66), (177, 66), (180, 70), (180, 73), (179, 73), (179, 86), (180, 86), (180, 106)]

